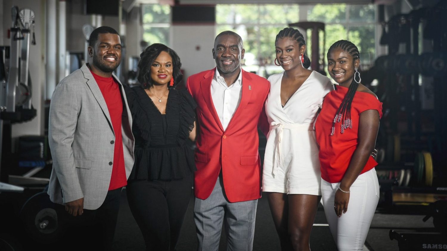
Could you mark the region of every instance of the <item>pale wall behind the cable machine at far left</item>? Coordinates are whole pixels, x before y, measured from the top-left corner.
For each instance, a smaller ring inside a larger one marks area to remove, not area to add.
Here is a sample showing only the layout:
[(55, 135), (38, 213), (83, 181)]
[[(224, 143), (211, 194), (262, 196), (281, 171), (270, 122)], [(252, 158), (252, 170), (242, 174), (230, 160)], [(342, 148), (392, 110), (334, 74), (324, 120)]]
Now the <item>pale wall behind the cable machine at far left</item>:
[[(44, 102), (43, 90), (45, 84), (45, 0), (3, 0), (3, 19), (1, 29), (7, 31), (11, 28), (11, 8), (17, 5), (19, 9), (30, 8), (35, 15), (35, 36), (36, 45), (30, 45), (30, 77), (32, 82), (32, 105), (37, 110), (37, 116), (31, 121), (24, 123), (17, 123), (12, 126), (13, 142), (15, 138), (22, 135), (43, 135), (44, 129)], [(10, 39), (4, 32), (1, 45), (9, 46)], [(32, 36), (32, 33), (30, 34)], [(32, 39), (32, 37), (31, 37)], [(8, 147), (8, 146), (4, 146)]]

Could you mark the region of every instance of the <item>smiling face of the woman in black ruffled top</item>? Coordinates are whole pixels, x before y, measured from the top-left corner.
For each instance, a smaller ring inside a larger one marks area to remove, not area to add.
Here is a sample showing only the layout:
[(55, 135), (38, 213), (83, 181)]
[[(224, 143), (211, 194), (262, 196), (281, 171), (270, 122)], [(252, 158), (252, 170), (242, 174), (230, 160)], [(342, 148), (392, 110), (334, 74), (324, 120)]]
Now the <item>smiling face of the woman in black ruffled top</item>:
[(151, 79), (155, 85), (168, 84), (172, 79), (172, 57), (166, 51), (160, 52), (151, 65)]

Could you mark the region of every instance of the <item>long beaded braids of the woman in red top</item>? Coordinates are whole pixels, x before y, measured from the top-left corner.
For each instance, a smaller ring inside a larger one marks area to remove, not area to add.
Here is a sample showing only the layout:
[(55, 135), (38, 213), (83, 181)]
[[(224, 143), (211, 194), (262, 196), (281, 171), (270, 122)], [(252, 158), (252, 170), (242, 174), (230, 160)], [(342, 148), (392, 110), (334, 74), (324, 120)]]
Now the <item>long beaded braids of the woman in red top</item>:
[[(328, 50), (328, 58), (329, 54), (333, 49), (340, 48), (350, 54), (353, 58), (353, 61), (360, 59), (360, 53), (358, 52), (357, 46), (355, 46), (352, 42), (347, 40), (339, 40), (329, 48)], [(357, 69), (356, 69), (357, 71)], [(360, 82), (360, 81), (359, 81)], [(352, 120), (351, 120), (351, 104), (354, 99), (355, 92), (357, 91), (358, 83), (355, 81), (355, 74), (352, 78), (351, 84), (349, 85), (348, 92), (342, 100), (342, 104), (337, 109), (335, 113), (334, 120), (332, 121), (332, 130), (331, 136), (335, 132), (335, 123), (342, 121), (341, 133), (345, 131), (345, 129), (352, 128)]]

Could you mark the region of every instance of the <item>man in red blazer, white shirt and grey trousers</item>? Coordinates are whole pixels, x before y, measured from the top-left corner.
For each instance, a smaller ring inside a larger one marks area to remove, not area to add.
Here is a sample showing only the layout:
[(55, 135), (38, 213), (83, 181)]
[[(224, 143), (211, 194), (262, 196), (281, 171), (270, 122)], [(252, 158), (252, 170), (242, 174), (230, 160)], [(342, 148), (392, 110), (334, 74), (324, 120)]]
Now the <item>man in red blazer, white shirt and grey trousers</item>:
[(270, 84), (241, 69), (244, 53), (238, 34), (220, 33), (213, 48), (217, 67), (190, 76), (186, 84), (198, 105), (194, 177), (198, 250), (219, 249), (223, 220), (229, 250), (253, 248), (261, 197), (257, 125), (265, 113)]

